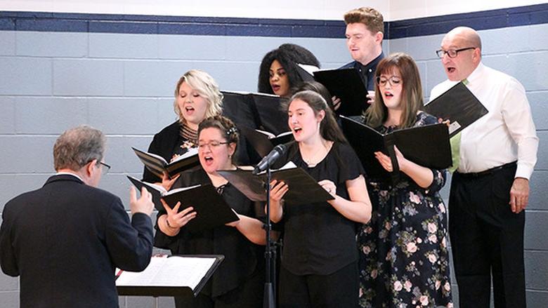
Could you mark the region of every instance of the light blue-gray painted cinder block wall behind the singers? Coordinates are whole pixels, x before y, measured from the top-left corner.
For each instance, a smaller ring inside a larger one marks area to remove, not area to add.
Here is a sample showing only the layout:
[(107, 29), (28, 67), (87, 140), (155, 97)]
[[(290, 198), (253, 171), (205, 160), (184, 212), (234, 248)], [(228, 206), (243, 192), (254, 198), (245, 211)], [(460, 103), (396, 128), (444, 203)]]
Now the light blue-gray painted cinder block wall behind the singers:
[[(548, 11), (545, 6), (542, 9)], [(540, 137), (526, 211), (528, 305), (546, 307), (548, 241), (544, 235), (548, 227), (543, 222), (548, 220), (548, 18), (531, 25), (482, 27), (470, 24), (471, 16), (478, 17), (461, 14), (444, 25), (436, 18), (391, 22), (384, 50), (410, 53), (417, 60), (427, 96), (445, 79), (434, 53), (441, 33), (452, 26), (472, 25), (483, 29), (485, 65), (515, 76), (525, 86)], [(150, 34), (114, 28), (109, 29), (116, 33), (100, 33), (84, 31), (89, 29), (86, 27), (74, 31), (69, 26), (59, 31), (41, 25), (10, 29), (2, 17), (0, 12), (0, 29), (4, 29), (0, 30), (0, 72), (4, 72), (0, 74), (0, 210), (13, 196), (43, 185), (53, 173), (53, 142), (63, 130), (80, 123), (107, 134), (105, 160), (112, 169), (100, 187), (127, 200), (125, 175), (142, 172), (130, 147), (145, 149), (154, 133), (174, 121), (174, 85), (188, 69), (209, 72), (225, 90), (256, 91), (261, 58), (280, 43), (305, 46), (325, 68), (350, 60), (344, 39), (337, 38), (344, 36), (340, 22), (327, 22), (327, 28), (297, 35), (251, 31), (244, 36), (240, 31), (229, 36), (226, 32)], [(445, 200), (448, 186), (443, 189)], [(453, 287), (457, 302), (457, 288)], [(0, 274), (2, 307), (18, 307), (18, 288), (18, 279)], [(150, 307), (152, 299), (120, 297), (120, 305)], [(173, 307), (173, 303), (162, 298), (159, 307)]]

